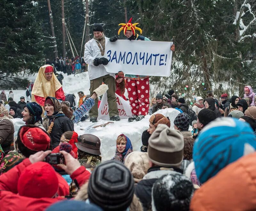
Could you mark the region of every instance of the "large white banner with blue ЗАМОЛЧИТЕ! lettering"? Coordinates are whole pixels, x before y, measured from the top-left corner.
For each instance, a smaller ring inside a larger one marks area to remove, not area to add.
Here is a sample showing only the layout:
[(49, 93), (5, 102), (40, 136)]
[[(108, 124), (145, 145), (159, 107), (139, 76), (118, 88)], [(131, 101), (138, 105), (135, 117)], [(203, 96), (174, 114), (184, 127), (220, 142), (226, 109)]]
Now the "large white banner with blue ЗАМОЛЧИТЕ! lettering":
[(170, 76), (172, 42), (117, 40), (108, 42), (104, 65), (108, 73), (123, 71), (124, 74)]

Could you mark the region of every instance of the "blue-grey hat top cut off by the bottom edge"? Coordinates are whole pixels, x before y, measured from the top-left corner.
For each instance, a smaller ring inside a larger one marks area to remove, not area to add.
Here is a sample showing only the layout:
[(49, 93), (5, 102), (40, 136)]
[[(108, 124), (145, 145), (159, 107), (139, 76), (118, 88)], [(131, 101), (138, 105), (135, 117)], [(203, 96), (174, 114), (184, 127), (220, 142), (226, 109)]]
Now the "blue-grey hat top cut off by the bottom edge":
[(85, 201), (77, 200), (62, 200), (60, 202), (54, 203), (48, 207), (45, 211), (103, 211), (100, 207), (95, 204), (88, 204)]

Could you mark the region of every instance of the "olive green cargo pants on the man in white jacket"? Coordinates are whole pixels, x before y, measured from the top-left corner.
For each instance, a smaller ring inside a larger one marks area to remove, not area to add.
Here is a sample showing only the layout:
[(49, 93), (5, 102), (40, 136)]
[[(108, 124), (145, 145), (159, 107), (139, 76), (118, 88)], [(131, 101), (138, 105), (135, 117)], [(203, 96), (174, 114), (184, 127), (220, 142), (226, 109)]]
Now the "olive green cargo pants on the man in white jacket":
[[(92, 96), (93, 90), (98, 88), (102, 82), (108, 85), (107, 97), (108, 97), (108, 114), (109, 117), (118, 115), (118, 109), (116, 105), (116, 82), (115, 78), (111, 75), (104, 75), (99, 78), (95, 78), (90, 81), (90, 95)], [(98, 98), (95, 99), (95, 104), (92, 106), (89, 111), (90, 118), (98, 118)]]

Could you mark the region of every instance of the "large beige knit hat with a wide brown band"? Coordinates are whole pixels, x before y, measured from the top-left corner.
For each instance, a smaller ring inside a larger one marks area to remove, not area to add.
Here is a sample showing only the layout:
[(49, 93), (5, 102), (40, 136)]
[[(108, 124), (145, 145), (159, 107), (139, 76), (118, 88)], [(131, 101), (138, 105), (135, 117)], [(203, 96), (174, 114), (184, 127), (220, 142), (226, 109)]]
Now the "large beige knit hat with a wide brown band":
[(180, 131), (159, 124), (148, 139), (149, 160), (163, 167), (179, 167), (183, 160), (184, 138)]

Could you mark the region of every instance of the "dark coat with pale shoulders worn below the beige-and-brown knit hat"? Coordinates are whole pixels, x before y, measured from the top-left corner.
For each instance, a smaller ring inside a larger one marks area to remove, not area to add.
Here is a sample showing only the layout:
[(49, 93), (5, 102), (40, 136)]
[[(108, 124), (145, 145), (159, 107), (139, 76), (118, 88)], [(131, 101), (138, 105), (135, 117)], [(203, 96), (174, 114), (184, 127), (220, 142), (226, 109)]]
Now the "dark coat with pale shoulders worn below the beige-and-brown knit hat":
[(135, 194), (140, 199), (140, 202), (144, 210), (151, 208), (151, 192), (153, 184), (157, 179), (166, 174), (182, 174), (180, 168), (164, 168), (160, 170), (161, 167), (155, 166), (148, 169), (148, 173), (143, 177), (143, 179), (135, 186)]

